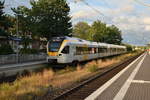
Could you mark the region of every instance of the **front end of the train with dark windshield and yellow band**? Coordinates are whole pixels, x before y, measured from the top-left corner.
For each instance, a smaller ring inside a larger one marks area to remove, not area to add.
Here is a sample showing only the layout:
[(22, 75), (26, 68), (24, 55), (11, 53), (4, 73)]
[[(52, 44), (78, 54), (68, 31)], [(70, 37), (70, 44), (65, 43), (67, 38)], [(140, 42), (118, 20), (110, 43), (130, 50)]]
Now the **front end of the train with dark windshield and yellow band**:
[(47, 61), (58, 63), (59, 51), (65, 37), (54, 37), (47, 44)]

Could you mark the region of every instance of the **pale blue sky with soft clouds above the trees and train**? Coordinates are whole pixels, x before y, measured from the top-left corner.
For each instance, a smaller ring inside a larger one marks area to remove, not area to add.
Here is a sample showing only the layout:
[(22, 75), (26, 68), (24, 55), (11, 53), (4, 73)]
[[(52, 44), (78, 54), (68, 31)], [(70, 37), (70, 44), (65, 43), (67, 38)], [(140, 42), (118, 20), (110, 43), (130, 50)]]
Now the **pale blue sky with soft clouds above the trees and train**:
[[(73, 25), (79, 21), (101, 20), (116, 25), (122, 31), (124, 43), (145, 45), (150, 43), (150, 0), (67, 0)], [(24, 5), (29, 0), (5, 0), (5, 11)]]

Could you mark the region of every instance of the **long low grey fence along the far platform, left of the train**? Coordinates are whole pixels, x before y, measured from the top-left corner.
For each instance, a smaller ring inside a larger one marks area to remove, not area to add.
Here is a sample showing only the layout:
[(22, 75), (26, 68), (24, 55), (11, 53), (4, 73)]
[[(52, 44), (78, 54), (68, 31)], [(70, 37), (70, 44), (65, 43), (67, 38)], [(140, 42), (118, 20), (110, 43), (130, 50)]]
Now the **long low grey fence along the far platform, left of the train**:
[(42, 61), (46, 60), (46, 54), (11, 54), (11, 55), (0, 55), (0, 65), (5, 64), (17, 64), (17, 63), (24, 63), (24, 62), (32, 62), (32, 61)]

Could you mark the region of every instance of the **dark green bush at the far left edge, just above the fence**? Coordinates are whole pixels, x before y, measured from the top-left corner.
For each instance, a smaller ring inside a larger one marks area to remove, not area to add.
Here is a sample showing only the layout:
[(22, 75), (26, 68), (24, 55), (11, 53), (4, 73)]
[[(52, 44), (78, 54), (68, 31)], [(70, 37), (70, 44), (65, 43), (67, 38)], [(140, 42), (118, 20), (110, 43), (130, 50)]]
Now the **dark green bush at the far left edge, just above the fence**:
[(0, 55), (12, 54), (14, 53), (12, 47), (9, 44), (2, 44), (0, 46)]

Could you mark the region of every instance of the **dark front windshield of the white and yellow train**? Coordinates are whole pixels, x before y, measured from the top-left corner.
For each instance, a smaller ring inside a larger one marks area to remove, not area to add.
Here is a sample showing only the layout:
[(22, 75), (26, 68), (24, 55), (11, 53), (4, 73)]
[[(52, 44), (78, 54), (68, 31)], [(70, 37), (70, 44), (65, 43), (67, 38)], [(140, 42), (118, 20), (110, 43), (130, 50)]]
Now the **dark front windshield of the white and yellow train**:
[(65, 39), (64, 37), (52, 38), (49, 41), (49, 45), (48, 45), (49, 52), (58, 52), (64, 39)]

